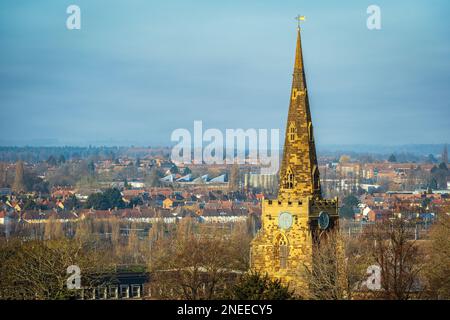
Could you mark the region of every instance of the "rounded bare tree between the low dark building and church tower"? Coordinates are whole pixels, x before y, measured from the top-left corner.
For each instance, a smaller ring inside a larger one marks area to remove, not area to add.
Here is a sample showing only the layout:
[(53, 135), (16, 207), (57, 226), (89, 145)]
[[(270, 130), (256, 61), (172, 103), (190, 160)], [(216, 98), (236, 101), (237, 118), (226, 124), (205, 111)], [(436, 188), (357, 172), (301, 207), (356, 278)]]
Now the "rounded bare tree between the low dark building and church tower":
[(233, 243), (238, 239), (223, 230), (183, 220), (172, 238), (159, 239), (152, 246), (153, 285), (161, 298), (217, 297), (229, 281), (244, 271), (238, 269), (242, 261), (237, 256), (242, 253)]

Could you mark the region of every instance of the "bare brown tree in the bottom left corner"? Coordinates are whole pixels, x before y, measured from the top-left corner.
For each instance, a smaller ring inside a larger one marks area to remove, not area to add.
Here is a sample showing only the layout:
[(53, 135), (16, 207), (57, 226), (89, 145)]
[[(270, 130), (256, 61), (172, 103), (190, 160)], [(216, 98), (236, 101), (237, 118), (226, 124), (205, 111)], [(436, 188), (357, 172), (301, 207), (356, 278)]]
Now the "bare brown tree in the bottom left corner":
[(82, 275), (106, 266), (103, 255), (67, 239), (1, 241), (0, 255), (0, 299), (68, 299), (75, 294), (67, 288), (68, 266), (79, 266)]

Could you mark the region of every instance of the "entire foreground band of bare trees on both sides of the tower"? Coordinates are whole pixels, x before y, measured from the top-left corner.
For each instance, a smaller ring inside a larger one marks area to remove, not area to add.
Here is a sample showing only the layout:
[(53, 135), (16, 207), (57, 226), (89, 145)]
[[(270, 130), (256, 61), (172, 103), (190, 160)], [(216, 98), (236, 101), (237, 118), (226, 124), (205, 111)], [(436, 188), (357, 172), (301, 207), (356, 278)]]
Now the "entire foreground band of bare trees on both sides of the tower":
[[(40, 239), (0, 239), (0, 298), (70, 298), (66, 268), (75, 264), (85, 274), (140, 266), (151, 274), (146, 287), (160, 299), (450, 299), (446, 214), (439, 216), (428, 241), (410, 240), (411, 228), (400, 219), (377, 223), (358, 238), (324, 234), (312, 265), (299, 270), (310, 289), (296, 294), (279, 281), (248, 273), (252, 237), (247, 223), (218, 227), (186, 218), (146, 226), (86, 219), (72, 226), (67, 240), (64, 225), (49, 220)], [(275, 254), (272, 259), (277, 263)], [(367, 287), (373, 265), (381, 270), (375, 290)]]

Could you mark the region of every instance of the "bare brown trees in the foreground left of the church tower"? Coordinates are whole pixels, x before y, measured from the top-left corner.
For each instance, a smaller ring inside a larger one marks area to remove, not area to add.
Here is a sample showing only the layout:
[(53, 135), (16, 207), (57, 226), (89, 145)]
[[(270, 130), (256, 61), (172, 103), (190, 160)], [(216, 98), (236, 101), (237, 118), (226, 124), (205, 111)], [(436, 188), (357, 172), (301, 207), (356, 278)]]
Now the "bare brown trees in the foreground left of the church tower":
[[(84, 275), (126, 266), (146, 270), (152, 279), (146, 287), (161, 292), (161, 299), (233, 298), (248, 292), (240, 287), (249, 268), (251, 236), (246, 223), (212, 228), (186, 218), (178, 224), (161, 222), (146, 230), (147, 226), (116, 218), (86, 219), (70, 227), (49, 220), (42, 238), (0, 238), (0, 299), (70, 299), (70, 265), (78, 265)], [(68, 227), (73, 228), (70, 239)], [(83, 287), (95, 283), (83, 279)], [(248, 292), (254, 296), (291, 296), (278, 282), (255, 275), (245, 281), (261, 286)]]

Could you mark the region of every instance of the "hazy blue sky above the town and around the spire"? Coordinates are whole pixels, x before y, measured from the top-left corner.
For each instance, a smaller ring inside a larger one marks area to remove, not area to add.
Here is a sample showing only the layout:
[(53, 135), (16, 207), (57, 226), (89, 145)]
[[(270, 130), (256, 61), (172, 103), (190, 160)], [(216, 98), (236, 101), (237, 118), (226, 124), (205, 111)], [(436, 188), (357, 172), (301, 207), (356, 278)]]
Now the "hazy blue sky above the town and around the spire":
[[(66, 8), (81, 8), (67, 30)], [(381, 8), (382, 29), (366, 27)], [(450, 2), (0, 2), (0, 144), (169, 145), (284, 130), (298, 13), (319, 145), (450, 137)]]

